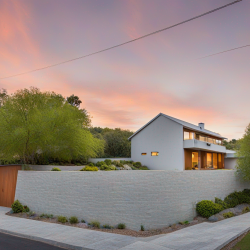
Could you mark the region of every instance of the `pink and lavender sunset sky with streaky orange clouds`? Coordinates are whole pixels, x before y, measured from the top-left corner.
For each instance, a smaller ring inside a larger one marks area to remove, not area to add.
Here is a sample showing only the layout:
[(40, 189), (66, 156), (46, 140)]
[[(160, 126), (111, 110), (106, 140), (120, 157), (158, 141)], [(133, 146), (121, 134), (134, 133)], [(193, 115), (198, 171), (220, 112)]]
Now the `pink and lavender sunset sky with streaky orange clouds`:
[[(89, 54), (233, 0), (0, 0), (0, 78)], [(78, 95), (92, 125), (136, 131), (158, 113), (238, 139), (250, 123), (250, 1), (128, 45), (0, 80)]]

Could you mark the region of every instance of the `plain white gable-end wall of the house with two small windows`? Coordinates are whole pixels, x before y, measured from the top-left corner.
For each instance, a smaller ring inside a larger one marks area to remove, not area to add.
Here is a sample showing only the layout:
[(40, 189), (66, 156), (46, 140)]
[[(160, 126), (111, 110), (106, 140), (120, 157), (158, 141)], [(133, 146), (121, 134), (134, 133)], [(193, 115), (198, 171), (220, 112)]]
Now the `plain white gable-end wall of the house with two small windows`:
[[(151, 152), (159, 156), (151, 156)], [(143, 156), (141, 153), (147, 153)], [(184, 169), (183, 126), (159, 116), (131, 139), (131, 158), (152, 170)]]

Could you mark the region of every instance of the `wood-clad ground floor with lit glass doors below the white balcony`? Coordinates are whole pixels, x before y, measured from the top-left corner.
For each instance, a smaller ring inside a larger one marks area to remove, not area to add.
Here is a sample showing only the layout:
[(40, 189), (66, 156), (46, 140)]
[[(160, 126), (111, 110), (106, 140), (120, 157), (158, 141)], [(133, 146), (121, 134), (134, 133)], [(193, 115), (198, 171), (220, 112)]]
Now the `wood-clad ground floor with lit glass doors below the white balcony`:
[(214, 170), (224, 168), (224, 154), (184, 149), (185, 170)]

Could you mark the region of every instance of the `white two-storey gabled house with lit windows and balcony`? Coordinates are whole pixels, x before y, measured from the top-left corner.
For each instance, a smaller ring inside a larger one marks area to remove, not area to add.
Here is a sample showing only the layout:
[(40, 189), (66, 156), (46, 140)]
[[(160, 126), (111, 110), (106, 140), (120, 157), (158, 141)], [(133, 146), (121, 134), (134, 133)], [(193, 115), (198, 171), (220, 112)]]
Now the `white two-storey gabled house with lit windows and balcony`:
[(205, 129), (204, 123), (197, 126), (162, 113), (129, 137), (133, 161), (151, 170), (179, 171), (224, 169), (227, 165), (233, 169), (235, 152), (227, 151), (223, 139)]

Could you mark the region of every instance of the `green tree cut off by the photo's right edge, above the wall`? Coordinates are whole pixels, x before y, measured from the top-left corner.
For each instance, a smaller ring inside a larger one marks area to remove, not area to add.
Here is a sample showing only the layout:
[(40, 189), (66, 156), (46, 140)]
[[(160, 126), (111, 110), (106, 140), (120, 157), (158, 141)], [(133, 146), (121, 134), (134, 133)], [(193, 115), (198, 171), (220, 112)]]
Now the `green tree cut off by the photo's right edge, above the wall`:
[(237, 172), (245, 180), (250, 180), (250, 124), (245, 130), (242, 139), (239, 140), (240, 148), (237, 152)]

